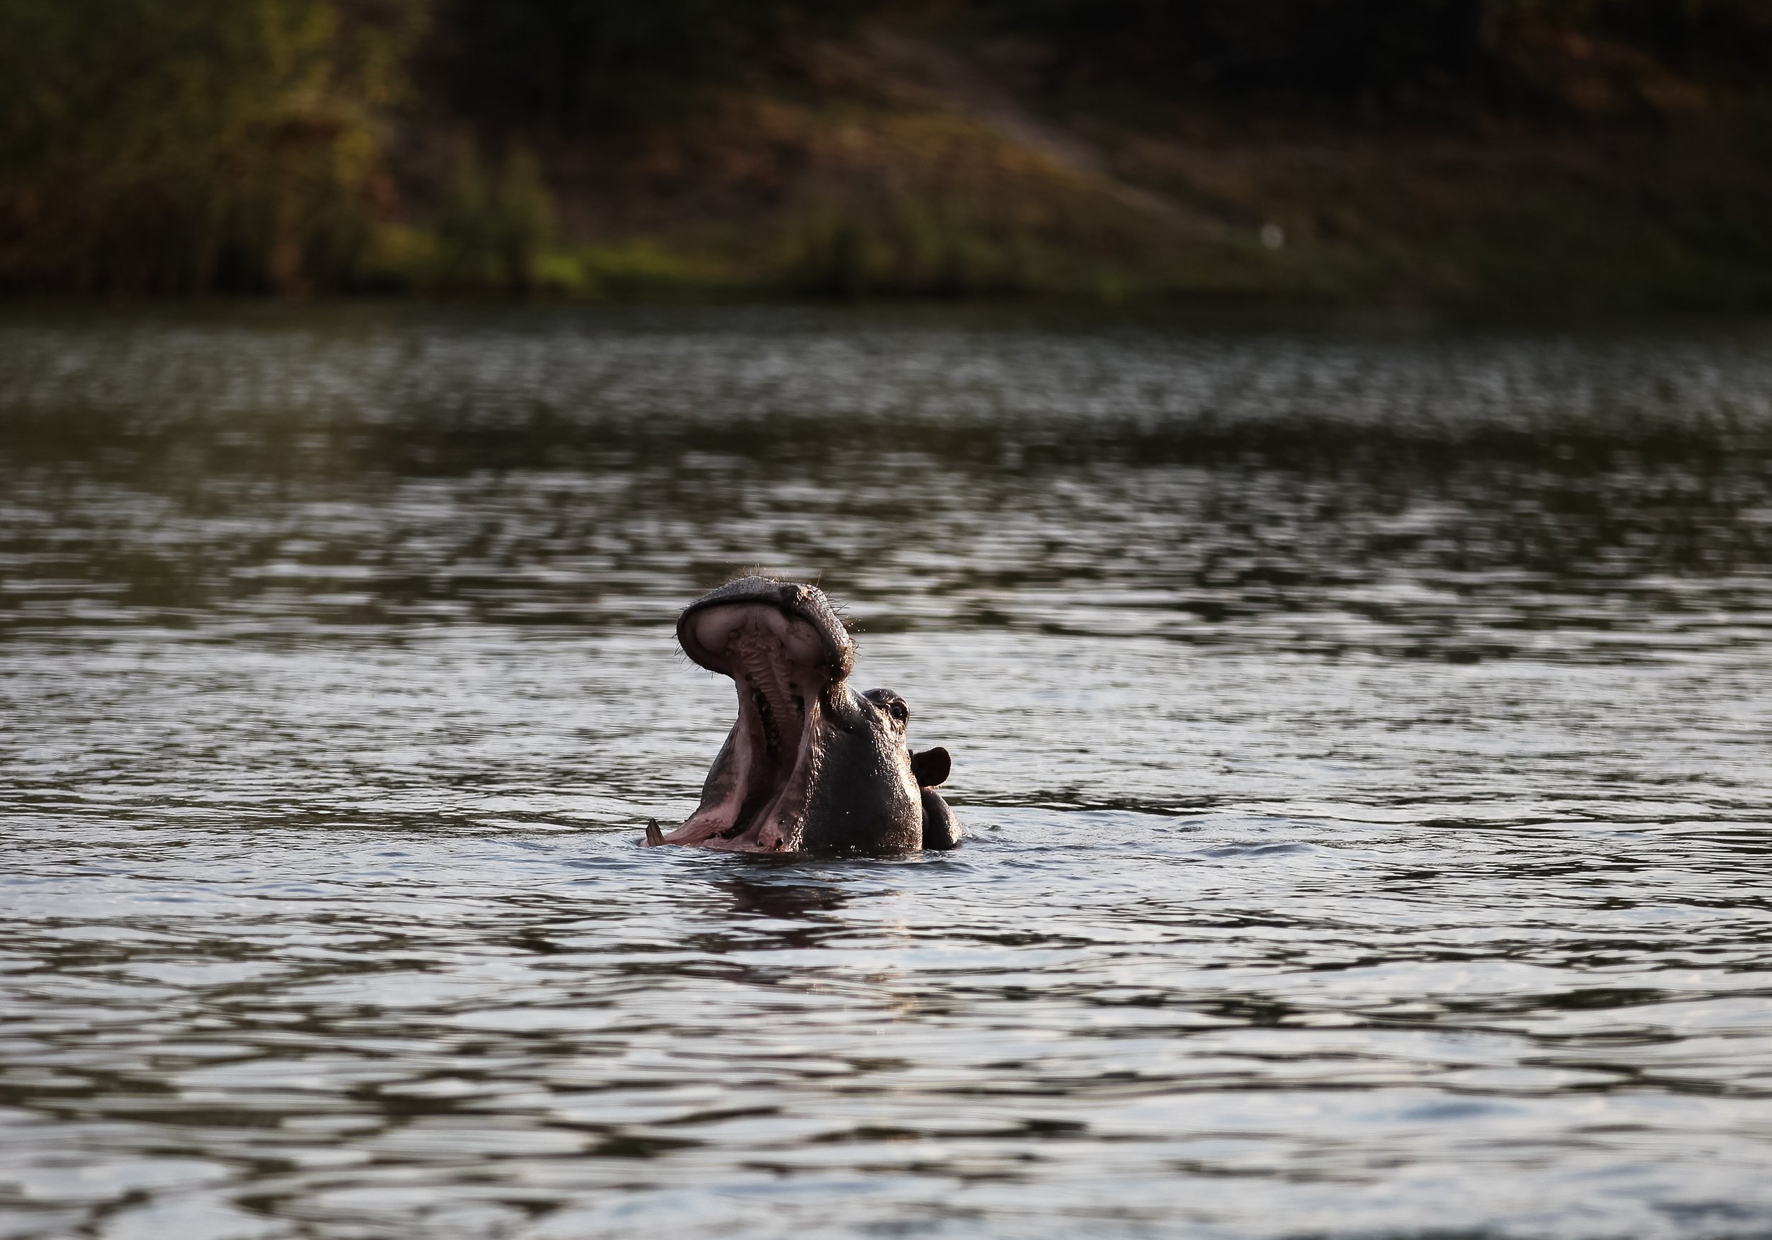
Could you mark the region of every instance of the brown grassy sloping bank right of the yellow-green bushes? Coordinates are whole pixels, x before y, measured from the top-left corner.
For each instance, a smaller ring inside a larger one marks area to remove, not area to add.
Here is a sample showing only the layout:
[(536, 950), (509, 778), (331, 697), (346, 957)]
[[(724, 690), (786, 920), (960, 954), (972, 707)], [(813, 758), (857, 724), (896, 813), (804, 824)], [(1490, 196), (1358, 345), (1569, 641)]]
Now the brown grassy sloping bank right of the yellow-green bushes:
[(819, 73), (812, 97), (730, 96), (638, 149), (555, 152), (562, 243), (532, 287), (1772, 306), (1758, 223), (1772, 170), (1738, 115), (1462, 129), (1223, 106), (1042, 115), (976, 60), (902, 35), (826, 48)]

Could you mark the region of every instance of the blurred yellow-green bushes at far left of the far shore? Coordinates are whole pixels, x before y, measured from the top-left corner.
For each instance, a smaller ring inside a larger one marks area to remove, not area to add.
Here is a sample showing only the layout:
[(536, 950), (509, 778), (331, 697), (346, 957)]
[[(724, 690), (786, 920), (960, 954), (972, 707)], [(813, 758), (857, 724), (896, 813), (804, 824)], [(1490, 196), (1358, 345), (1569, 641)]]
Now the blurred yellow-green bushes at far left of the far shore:
[(374, 246), (400, 0), (4, 0), (0, 283), (301, 291)]

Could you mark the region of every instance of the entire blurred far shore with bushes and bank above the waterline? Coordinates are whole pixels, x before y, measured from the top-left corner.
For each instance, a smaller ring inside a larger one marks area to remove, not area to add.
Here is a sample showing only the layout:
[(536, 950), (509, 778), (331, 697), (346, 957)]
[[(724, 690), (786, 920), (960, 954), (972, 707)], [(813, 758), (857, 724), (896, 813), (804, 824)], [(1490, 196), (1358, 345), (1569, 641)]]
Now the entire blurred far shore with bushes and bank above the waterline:
[(0, 289), (1772, 305), (1763, 0), (0, 0)]

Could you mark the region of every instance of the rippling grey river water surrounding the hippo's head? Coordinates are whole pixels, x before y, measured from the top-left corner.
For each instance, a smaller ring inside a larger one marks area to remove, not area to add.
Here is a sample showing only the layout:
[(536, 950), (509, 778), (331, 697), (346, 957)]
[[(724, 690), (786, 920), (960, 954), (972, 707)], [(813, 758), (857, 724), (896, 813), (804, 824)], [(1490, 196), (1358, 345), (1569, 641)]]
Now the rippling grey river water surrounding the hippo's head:
[(1767, 1236), (1768, 689), (1763, 326), (14, 314), (0, 1236)]

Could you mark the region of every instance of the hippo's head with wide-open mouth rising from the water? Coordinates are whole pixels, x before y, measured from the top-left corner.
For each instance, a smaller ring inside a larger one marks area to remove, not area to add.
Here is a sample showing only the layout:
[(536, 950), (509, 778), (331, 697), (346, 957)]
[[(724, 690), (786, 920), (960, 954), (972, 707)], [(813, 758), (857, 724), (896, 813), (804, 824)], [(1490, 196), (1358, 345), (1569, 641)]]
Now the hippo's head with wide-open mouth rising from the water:
[(856, 693), (856, 647), (817, 586), (741, 577), (677, 616), (695, 663), (732, 677), (739, 721), (677, 829), (647, 843), (728, 852), (891, 856), (953, 849), (960, 824), (936, 787), (946, 749), (911, 753), (911, 710), (890, 689)]

